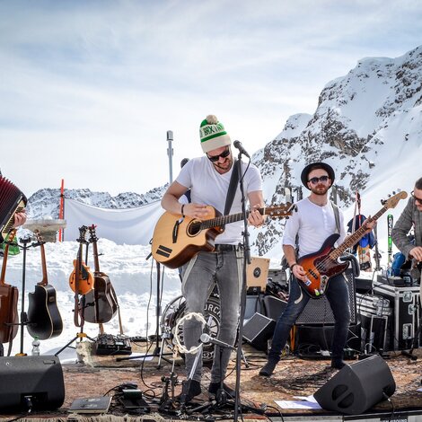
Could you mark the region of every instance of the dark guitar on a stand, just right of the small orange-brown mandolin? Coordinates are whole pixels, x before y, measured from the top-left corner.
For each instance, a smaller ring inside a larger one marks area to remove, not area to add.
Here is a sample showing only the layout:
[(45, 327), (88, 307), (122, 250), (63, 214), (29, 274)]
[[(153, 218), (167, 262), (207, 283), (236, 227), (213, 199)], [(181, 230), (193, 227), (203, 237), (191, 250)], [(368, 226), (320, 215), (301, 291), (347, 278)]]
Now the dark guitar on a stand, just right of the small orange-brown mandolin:
[(94, 288), (85, 295), (84, 320), (92, 323), (109, 322), (118, 311), (118, 300), (116, 292), (111, 285), (107, 274), (100, 271), (100, 261), (98, 259), (97, 235), (95, 225), (89, 227), (90, 239), (94, 259)]

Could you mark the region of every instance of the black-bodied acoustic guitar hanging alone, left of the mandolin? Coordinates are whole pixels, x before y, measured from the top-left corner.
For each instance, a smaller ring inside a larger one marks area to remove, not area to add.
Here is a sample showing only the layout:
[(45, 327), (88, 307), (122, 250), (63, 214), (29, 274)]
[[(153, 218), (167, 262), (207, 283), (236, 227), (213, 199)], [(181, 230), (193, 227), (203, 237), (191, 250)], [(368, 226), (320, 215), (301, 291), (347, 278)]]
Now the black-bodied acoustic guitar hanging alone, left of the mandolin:
[(28, 294), (27, 330), (32, 337), (47, 340), (61, 334), (63, 321), (57, 308), (56, 289), (48, 284), (45, 242), (39, 231), (35, 232), (35, 236), (40, 244), (42, 280), (37, 283), (34, 292)]

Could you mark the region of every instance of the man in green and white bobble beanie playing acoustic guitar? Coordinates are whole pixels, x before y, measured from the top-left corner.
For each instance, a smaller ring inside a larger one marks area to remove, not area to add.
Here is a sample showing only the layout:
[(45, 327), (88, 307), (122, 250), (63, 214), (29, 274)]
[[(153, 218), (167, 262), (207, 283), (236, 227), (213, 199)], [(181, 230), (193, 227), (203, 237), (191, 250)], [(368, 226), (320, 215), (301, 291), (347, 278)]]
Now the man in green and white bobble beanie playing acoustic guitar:
[[(171, 183), (163, 196), (165, 210), (191, 218), (207, 218), (207, 207), (215, 207), (224, 213), (224, 205), (233, 172), (232, 141), (224, 126), (213, 116), (207, 116), (199, 128), (201, 146), (205, 156), (193, 158), (180, 170), (177, 179)], [(251, 209), (263, 207), (262, 181), (257, 167), (242, 163), (245, 193)], [(180, 204), (179, 198), (190, 189), (191, 202)], [(236, 188), (233, 206), (228, 214), (242, 212), (241, 191)], [(248, 221), (259, 227), (264, 219), (259, 211), (253, 210)], [(204, 313), (208, 296), (215, 284), (220, 296), (220, 330), (218, 338), (233, 345), (236, 337), (240, 294), (242, 286), (242, 221), (226, 224), (224, 233), (215, 238), (215, 251), (201, 251), (189, 261), (183, 272), (182, 294), (186, 299), (186, 313)], [(183, 326), (185, 346), (196, 347), (202, 333), (200, 322), (187, 320)], [(221, 353), (220, 353), (221, 351)], [(224, 380), (231, 350), (215, 347), (214, 362), (211, 369), (211, 383), (208, 391), (215, 394)], [(195, 356), (186, 355), (186, 367), (190, 373)], [(180, 402), (187, 403), (201, 392), (202, 356), (199, 356), (195, 373), (189, 382), (184, 382)], [(224, 390), (233, 394), (228, 386)]]

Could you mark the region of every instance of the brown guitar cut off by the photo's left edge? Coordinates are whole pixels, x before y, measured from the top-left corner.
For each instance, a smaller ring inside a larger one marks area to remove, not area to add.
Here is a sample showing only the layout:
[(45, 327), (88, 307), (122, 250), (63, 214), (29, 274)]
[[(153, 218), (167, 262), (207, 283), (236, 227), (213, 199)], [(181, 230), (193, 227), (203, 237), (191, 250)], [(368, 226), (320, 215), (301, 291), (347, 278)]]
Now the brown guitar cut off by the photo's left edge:
[(19, 329), (19, 292), (17, 287), (7, 285), (4, 281), (7, 255), (9, 253), (9, 243), (7, 242), (13, 241), (15, 233), (16, 229), (13, 229), (6, 237), (2, 272), (0, 275), (0, 343), (9, 343), (9, 352), (12, 346), (12, 340), (16, 337)]

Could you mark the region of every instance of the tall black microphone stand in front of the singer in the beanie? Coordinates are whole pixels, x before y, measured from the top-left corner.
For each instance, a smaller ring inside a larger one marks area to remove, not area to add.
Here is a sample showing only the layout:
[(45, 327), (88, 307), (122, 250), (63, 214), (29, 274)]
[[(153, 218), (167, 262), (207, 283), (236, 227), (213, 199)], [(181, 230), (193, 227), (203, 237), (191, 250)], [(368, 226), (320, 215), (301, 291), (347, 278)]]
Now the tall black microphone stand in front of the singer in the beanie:
[(251, 246), (249, 243), (249, 232), (248, 232), (248, 215), (246, 213), (246, 198), (244, 194), (243, 187), (243, 178), (242, 178), (242, 151), (238, 154), (238, 160), (240, 165), (238, 166), (239, 171), (239, 185), (241, 189), (241, 198), (242, 198), (242, 215), (243, 215), (243, 273), (242, 273), (242, 295), (241, 295), (241, 309), (240, 309), (240, 318), (239, 318), (239, 330), (238, 330), (238, 347), (236, 354), (236, 394), (234, 398), (234, 421), (238, 420), (239, 417), (239, 402), (240, 402), (240, 392), (241, 391), (241, 363), (242, 363), (242, 338), (243, 338), (243, 318), (245, 314), (246, 307), (246, 266), (251, 264)]

